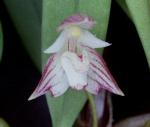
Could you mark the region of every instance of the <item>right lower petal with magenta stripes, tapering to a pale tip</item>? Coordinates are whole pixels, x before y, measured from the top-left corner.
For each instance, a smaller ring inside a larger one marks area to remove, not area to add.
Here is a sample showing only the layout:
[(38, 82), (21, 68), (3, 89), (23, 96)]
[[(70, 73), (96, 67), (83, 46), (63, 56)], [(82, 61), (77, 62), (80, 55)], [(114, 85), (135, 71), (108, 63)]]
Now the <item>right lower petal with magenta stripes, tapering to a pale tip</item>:
[(93, 82), (95, 81), (96, 84), (99, 84), (101, 88), (123, 96), (123, 92), (110, 74), (103, 58), (94, 49), (88, 47), (86, 47), (86, 49), (90, 56), (90, 69), (88, 75), (90, 75), (91, 80), (93, 80)]

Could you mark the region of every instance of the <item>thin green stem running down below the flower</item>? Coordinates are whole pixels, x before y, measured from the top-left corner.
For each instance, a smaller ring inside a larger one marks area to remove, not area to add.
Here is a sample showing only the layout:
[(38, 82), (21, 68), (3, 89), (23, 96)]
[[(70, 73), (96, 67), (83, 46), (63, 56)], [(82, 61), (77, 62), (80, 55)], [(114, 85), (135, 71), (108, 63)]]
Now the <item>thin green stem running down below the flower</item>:
[(93, 126), (92, 127), (98, 127), (98, 121), (97, 121), (97, 114), (96, 114), (96, 105), (93, 96), (87, 92), (88, 100), (90, 102), (91, 110), (92, 110), (92, 117), (93, 117)]

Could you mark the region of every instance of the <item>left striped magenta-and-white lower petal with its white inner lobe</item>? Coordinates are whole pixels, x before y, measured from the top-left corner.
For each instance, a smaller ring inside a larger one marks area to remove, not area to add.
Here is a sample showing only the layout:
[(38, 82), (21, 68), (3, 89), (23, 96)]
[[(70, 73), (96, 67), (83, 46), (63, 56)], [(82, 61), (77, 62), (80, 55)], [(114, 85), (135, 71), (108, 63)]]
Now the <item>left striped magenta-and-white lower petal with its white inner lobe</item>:
[[(36, 87), (33, 94), (29, 97), (28, 100), (35, 99), (48, 91), (50, 91), (53, 96), (59, 96), (67, 90), (68, 88), (68, 83), (66, 83), (67, 79), (64, 76), (64, 70), (61, 67), (61, 64), (58, 60), (59, 55), (56, 54), (51, 55), (44, 68), (38, 86)], [(56, 91), (56, 88), (59, 89), (57, 89)]]

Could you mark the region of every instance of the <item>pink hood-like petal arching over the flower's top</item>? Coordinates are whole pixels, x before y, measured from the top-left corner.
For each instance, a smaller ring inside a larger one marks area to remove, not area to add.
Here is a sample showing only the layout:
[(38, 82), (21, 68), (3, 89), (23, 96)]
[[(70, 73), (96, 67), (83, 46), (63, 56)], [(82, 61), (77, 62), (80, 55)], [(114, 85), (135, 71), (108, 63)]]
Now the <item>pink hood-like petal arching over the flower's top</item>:
[(68, 18), (66, 18), (58, 27), (58, 31), (62, 31), (65, 28), (77, 25), (84, 29), (91, 29), (96, 24), (96, 21), (90, 17), (83, 14), (74, 14)]

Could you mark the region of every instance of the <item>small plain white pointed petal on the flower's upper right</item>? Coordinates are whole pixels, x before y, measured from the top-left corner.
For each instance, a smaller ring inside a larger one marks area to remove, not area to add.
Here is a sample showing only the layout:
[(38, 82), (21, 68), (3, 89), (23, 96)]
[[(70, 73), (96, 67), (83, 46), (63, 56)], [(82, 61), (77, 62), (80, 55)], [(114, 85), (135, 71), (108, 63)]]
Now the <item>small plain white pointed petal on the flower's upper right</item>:
[(102, 48), (102, 47), (107, 47), (110, 45), (109, 43), (98, 39), (89, 31), (86, 31), (86, 30), (83, 30), (83, 33), (80, 36), (78, 41), (81, 42), (83, 45), (88, 46), (90, 48)]

